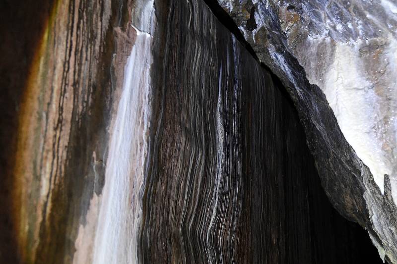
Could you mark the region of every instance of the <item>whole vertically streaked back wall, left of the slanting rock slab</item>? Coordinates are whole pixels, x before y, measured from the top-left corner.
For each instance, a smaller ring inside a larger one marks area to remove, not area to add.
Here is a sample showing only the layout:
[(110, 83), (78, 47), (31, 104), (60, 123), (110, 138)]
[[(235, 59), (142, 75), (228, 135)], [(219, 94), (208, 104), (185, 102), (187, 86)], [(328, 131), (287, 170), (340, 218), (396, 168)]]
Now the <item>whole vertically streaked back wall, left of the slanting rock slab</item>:
[(0, 15), (0, 33), (22, 34), (4, 61), (30, 65), (1, 63), (0, 263), (381, 262), (321, 186), (330, 196), (326, 158), (306, 145), (311, 112), (224, 13), (228, 28), (202, 0), (36, 5), (30, 23), (15, 25), (10, 2)]

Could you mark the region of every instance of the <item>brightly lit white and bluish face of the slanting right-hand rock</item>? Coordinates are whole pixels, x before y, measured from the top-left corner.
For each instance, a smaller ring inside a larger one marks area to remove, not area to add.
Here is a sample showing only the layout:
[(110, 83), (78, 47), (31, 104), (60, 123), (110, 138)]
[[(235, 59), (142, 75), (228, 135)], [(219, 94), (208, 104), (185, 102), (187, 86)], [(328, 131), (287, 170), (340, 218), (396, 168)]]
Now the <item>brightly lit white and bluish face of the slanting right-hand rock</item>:
[[(382, 193), (384, 175), (390, 176), (396, 203), (396, 5), (318, 1), (280, 8), (289, 48), (325, 93), (343, 135)], [(292, 22), (291, 14), (297, 16)]]

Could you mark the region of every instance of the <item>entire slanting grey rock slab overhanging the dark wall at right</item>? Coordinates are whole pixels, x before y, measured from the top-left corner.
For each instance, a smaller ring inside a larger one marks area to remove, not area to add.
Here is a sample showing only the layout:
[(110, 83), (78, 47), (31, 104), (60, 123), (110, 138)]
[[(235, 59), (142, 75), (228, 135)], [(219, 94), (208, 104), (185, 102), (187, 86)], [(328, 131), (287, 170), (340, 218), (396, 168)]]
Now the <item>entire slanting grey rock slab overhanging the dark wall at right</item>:
[(218, 2), (289, 87), (334, 206), (397, 263), (397, 3)]

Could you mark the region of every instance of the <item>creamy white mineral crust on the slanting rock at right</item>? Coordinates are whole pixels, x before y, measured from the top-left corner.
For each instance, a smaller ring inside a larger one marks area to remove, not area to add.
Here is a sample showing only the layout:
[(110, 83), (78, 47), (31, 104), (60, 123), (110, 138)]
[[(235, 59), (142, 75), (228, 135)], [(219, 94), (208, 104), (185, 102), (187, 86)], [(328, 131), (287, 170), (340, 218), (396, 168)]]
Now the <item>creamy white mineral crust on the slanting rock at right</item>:
[[(394, 42), (389, 41), (383, 53), (371, 54), (371, 58), (360, 56), (366, 41), (336, 44), (322, 88), (346, 140), (370, 168), (382, 193), (384, 175), (391, 176), (396, 202), (397, 90), (393, 79), (397, 74), (394, 67), (397, 57), (389, 52), (395, 49)], [(384, 68), (371, 75), (365, 68), (370, 59), (384, 61)]]

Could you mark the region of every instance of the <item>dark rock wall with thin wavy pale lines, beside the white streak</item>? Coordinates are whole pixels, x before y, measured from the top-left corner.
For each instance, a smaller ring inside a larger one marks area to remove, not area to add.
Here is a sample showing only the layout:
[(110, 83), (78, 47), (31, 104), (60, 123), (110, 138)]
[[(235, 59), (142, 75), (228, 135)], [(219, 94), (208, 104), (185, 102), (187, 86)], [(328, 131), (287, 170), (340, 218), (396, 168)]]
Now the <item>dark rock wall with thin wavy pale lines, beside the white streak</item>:
[(355, 238), (337, 242), (346, 222), (331, 220), (335, 215), (319, 191), (304, 133), (280, 84), (202, 2), (170, 1), (167, 7), (160, 9), (169, 8), (167, 23), (158, 23), (160, 30), (167, 25), (167, 50), (153, 63), (163, 68), (143, 187), (140, 260), (361, 258), (342, 249), (356, 247)]

